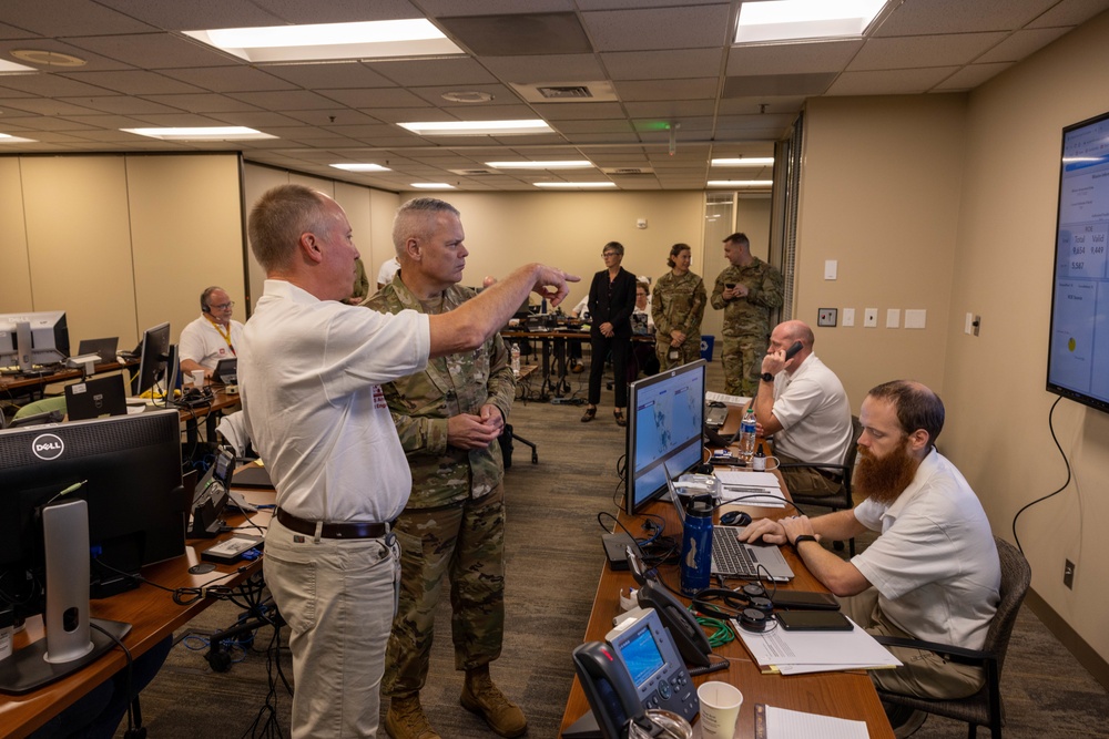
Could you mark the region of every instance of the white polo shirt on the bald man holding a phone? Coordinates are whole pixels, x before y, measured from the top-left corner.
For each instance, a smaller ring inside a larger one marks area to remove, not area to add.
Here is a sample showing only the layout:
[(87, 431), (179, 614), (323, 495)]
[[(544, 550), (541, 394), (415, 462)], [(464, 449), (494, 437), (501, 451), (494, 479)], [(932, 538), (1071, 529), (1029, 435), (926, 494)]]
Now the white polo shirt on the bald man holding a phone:
[(808, 355), (791, 377), (782, 370), (774, 378), (771, 411), (782, 430), (774, 433), (774, 449), (814, 464), (842, 464), (851, 445), (851, 406), (835, 372)]

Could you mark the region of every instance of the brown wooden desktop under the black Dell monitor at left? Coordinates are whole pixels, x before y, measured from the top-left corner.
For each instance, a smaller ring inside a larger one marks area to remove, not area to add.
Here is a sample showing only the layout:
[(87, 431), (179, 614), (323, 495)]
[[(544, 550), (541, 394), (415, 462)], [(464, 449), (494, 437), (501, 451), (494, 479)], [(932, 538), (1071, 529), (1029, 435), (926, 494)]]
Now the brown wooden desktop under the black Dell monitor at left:
[[(243, 491), (252, 503), (273, 503), (274, 493)], [(263, 530), (269, 525), (271, 511), (262, 510), (250, 515), (252, 522)], [(241, 525), (243, 516), (228, 515), (228, 523)], [(251, 528), (253, 533), (257, 530)], [(228, 534), (230, 535), (230, 534)], [(225, 538), (226, 536), (220, 537)], [(200, 553), (212, 546), (215, 540), (187, 540), (185, 554), (166, 562), (143, 567), (143, 577), (169, 588), (201, 587), (205, 585), (237, 585), (254, 573), (262, 572), (262, 560), (238, 562), (234, 565), (216, 565), (215, 572), (191, 575), (189, 568), (201, 562)], [(242, 571), (240, 571), (242, 569)], [(222, 579), (221, 575), (230, 575)], [(212, 598), (196, 598), (187, 605), (177, 605), (173, 595), (150, 585), (140, 585), (134, 591), (90, 603), (93, 618), (106, 618), (131, 624), (131, 633), (123, 644), (135, 657), (157, 645), (166, 636), (184, 626), (196, 614), (212, 605)], [(28, 620), (27, 628), (16, 635), (14, 648), (44, 638), (41, 617)], [(24, 696), (0, 696), (0, 737), (26, 737), (47, 720), (71, 706), (94, 687), (126, 666), (126, 657), (119, 647), (88, 667), (67, 678), (51, 682), (41, 690)]]

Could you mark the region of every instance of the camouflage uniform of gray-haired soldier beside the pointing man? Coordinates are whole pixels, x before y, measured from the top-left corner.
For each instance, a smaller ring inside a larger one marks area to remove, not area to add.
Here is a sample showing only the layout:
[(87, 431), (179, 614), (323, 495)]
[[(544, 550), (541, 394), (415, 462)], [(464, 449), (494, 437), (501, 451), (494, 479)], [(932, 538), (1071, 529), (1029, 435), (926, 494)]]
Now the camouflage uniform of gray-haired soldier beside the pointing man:
[[(440, 314), (476, 290), (450, 287), (428, 308), (400, 279), (366, 305)], [(440, 583), (451, 588), (456, 669), (500, 656), (505, 627), (505, 468), (500, 444), (465, 451), (447, 445), (447, 419), (496, 406), (507, 420), (516, 380), (500, 336), (472, 352), (439, 357), (427, 369), (384, 386), (413, 472), (413, 492), (394, 532), (400, 542), (400, 601), (381, 687), (389, 697), (418, 692), (427, 679)]]

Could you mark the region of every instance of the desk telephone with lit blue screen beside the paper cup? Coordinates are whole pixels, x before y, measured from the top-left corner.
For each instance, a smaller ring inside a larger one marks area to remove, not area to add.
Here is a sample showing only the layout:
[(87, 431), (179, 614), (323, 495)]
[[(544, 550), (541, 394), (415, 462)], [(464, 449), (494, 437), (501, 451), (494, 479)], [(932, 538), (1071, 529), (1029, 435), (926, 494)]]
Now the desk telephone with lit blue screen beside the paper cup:
[(604, 643), (588, 642), (573, 650), (573, 667), (599, 735), (589, 730), (583, 717), (562, 733), (563, 739), (625, 739), (630, 723), (660, 736), (662, 729), (648, 717), (648, 709), (669, 710), (691, 723), (701, 709), (693, 680), (658, 612), (634, 608), (624, 616)]

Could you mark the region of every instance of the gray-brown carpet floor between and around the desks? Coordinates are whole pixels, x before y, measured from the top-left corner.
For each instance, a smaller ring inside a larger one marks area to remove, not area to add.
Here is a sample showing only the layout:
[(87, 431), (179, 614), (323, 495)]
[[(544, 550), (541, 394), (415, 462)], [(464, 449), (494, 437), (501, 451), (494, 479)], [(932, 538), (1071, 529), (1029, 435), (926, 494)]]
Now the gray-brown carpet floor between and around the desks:
[[(584, 376), (574, 376), (576, 394)], [(709, 365), (709, 389), (723, 390), (720, 363)], [(602, 397), (597, 420), (581, 423), (582, 408), (518, 401), (510, 422), (539, 447), (539, 464), (517, 443), (508, 491), (507, 628), (495, 680), (528, 716), (528, 736), (553, 739), (573, 677), (570, 650), (581, 643), (603, 554), (598, 512), (614, 513), (620, 492), (618, 460), (623, 429), (612, 419), (612, 393)], [(865, 545), (862, 542), (861, 545)], [(189, 625), (203, 633), (235, 623), (238, 609), (218, 603)], [(492, 737), (486, 725), (458, 705), (461, 674), (454, 669), (449, 607), (437, 616), (428, 686), (421, 700), (435, 728), (447, 739)], [(200, 637), (181, 640), (142, 696), (143, 718), (152, 739), (252, 736), (268, 690), (266, 656), (261, 649), (269, 629), (253, 648), (236, 653), (241, 661), (214, 673), (197, 646)], [(179, 634), (179, 636), (181, 636)], [(287, 651), (286, 675), (292, 675)], [(741, 686), (742, 687), (742, 686)], [(1109, 694), (1066, 651), (1027, 607), (1021, 609), (1003, 676), (1013, 739), (1032, 737), (1109, 737)], [(277, 690), (281, 736), (288, 736), (289, 700)], [(122, 739), (124, 726), (116, 737)], [(988, 732), (983, 736), (987, 736)], [(254, 735), (260, 736), (260, 735)], [(379, 736), (385, 736), (384, 729)], [(966, 736), (966, 726), (930, 717), (915, 735), (920, 739)]]

